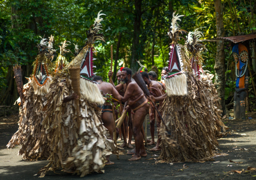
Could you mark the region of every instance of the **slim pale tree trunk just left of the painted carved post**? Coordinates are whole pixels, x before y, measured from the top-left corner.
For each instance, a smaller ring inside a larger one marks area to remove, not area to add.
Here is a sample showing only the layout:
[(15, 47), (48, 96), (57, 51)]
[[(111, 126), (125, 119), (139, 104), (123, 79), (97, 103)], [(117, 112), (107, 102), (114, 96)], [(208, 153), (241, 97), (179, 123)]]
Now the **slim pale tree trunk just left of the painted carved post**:
[[(214, 0), (216, 12), (216, 29), (217, 38), (224, 37), (225, 30), (223, 24), (223, 7), (221, 0)], [(224, 40), (217, 41), (217, 53), (215, 58), (215, 86), (220, 97), (220, 104), (222, 106), (222, 115), (225, 115), (225, 53)]]

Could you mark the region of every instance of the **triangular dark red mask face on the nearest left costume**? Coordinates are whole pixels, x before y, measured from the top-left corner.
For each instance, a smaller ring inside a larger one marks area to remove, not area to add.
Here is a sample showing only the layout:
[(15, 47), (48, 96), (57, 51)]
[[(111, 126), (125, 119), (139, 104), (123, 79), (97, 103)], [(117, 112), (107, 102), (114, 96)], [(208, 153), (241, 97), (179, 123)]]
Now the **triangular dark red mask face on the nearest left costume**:
[(80, 75), (84, 78), (92, 79), (93, 75), (93, 50), (89, 48), (81, 62)]

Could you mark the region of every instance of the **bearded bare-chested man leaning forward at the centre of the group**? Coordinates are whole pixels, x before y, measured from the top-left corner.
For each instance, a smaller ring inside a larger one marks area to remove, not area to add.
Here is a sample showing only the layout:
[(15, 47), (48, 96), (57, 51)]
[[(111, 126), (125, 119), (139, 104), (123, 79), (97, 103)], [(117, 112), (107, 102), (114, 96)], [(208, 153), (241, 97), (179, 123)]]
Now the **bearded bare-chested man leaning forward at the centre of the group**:
[[(126, 84), (126, 91), (122, 98), (123, 102), (127, 102), (132, 111), (133, 116), (133, 133), (135, 137), (135, 154), (129, 160), (141, 159), (141, 156), (146, 157), (147, 152), (143, 143), (143, 135), (141, 128), (145, 119), (145, 116), (149, 112), (149, 103), (144, 96), (142, 89), (135, 81), (132, 81), (132, 70), (130, 68), (123, 68), (121, 71), (121, 83)], [(136, 100), (136, 102), (134, 102)], [(125, 107), (124, 107), (125, 108)]]

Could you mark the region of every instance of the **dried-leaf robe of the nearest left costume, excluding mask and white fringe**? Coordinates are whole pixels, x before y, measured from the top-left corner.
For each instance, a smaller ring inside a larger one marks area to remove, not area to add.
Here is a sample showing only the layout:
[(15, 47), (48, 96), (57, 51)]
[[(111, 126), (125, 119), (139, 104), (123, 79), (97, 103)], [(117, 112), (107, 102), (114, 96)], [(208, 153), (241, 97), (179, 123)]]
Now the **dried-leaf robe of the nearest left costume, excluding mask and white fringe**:
[[(49, 163), (38, 172), (40, 177), (59, 168), (81, 177), (92, 172), (103, 173), (106, 155), (116, 151), (113, 141), (105, 136), (108, 131), (101, 121), (101, 108), (82, 96), (77, 118), (75, 101), (63, 103), (63, 98), (72, 93), (68, 74), (57, 73), (47, 94), (48, 109), (42, 122), (51, 139), (51, 150)], [(80, 128), (77, 119), (81, 120)]]

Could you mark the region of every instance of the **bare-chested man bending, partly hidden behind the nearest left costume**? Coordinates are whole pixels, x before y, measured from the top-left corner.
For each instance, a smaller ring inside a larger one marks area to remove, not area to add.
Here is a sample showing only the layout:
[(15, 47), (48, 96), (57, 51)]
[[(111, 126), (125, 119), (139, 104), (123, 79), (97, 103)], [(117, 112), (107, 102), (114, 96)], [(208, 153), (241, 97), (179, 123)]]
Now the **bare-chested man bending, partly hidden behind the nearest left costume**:
[[(107, 94), (112, 94), (112, 96), (117, 99), (118, 101), (121, 100), (122, 96), (119, 95), (117, 90), (114, 88), (114, 86), (110, 83), (103, 82), (102, 78), (100, 76), (95, 76), (93, 78), (93, 81), (96, 81), (100, 84), (98, 85), (99, 90), (102, 92), (103, 96), (106, 96)], [(103, 125), (108, 129), (110, 133), (110, 139), (113, 140), (114, 135), (114, 128), (115, 128), (115, 122), (114, 122), (114, 116), (112, 112), (112, 106), (109, 102), (105, 102), (102, 106), (102, 122)], [(106, 156), (107, 162), (106, 165), (114, 164), (114, 162), (111, 162), (109, 160), (109, 155)]]

